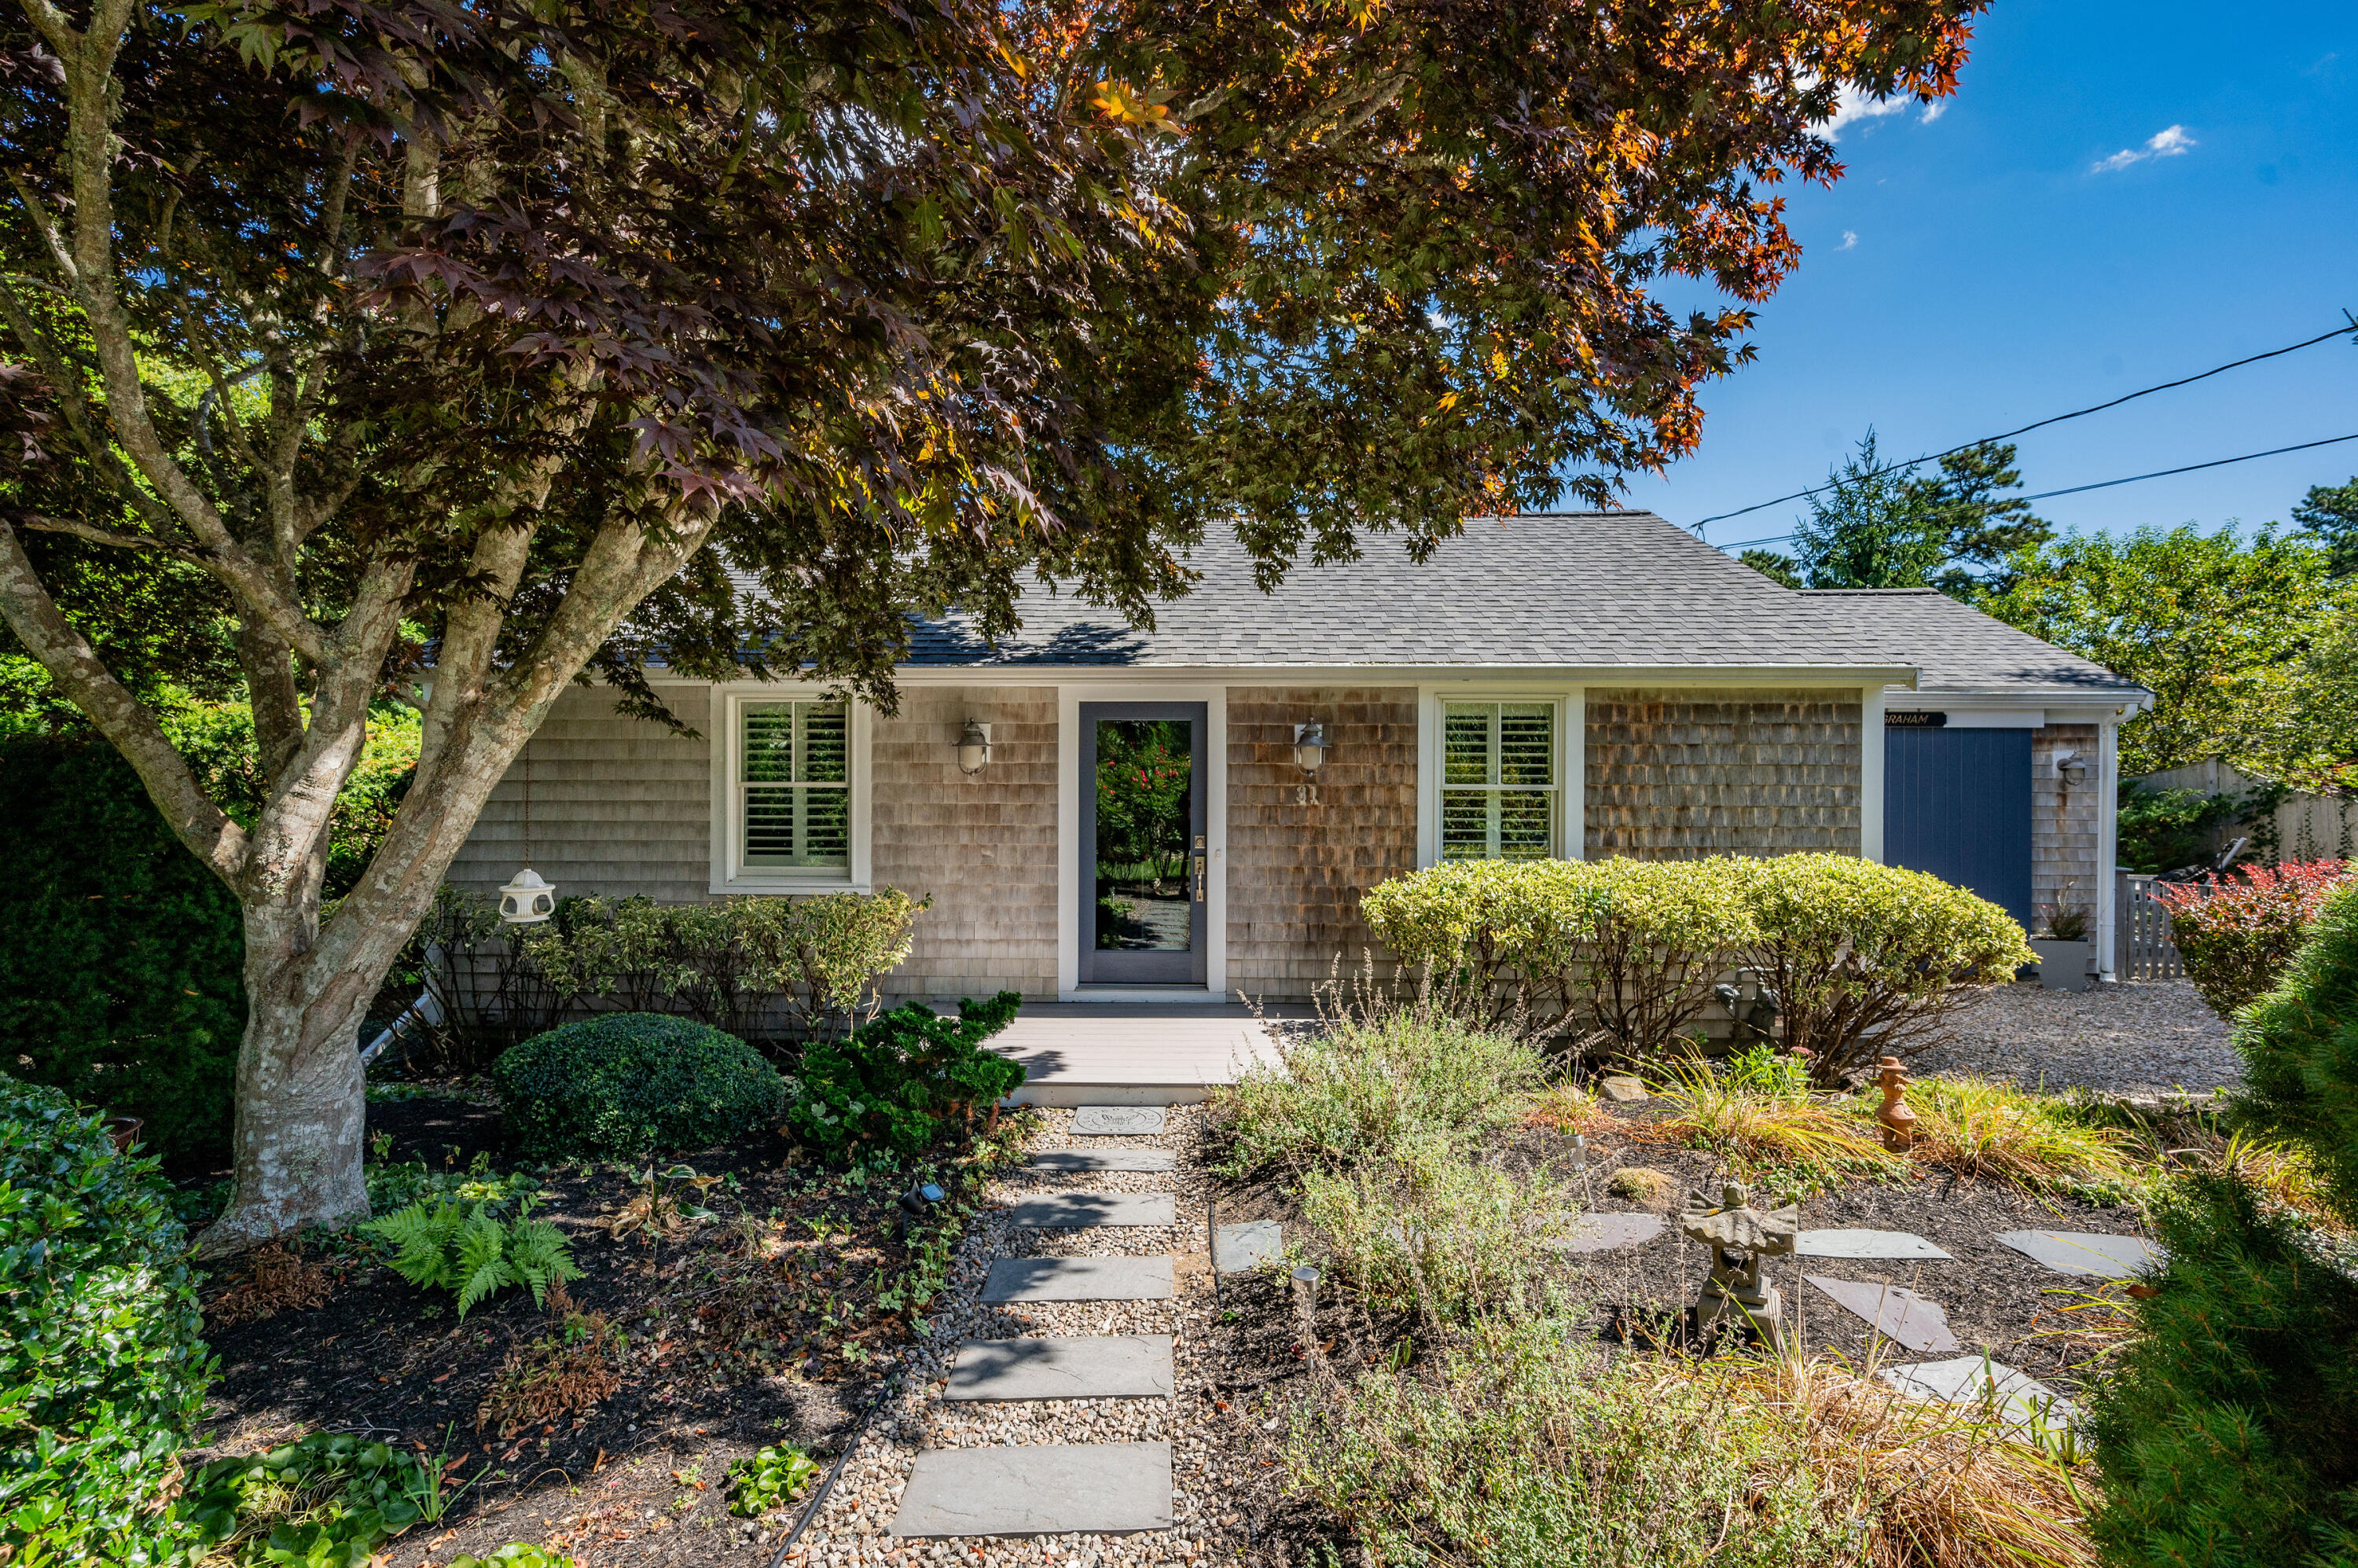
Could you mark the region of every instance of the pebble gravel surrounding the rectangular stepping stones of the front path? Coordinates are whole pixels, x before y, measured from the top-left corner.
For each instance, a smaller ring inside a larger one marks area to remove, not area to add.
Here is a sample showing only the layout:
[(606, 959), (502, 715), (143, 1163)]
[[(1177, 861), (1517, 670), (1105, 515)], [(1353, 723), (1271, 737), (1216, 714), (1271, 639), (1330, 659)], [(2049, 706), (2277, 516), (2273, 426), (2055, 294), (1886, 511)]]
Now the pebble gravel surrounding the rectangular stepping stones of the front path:
[[(1203, 1172), (1191, 1170), (1200, 1106), (1172, 1106), (1160, 1137), (1071, 1137), (1071, 1111), (1047, 1111), (1035, 1151), (1047, 1148), (1172, 1148), (1179, 1172), (1035, 1172), (1016, 1167), (990, 1191), (990, 1210), (969, 1228), (950, 1264), (950, 1285), (929, 1323), (922, 1349), (908, 1358), (901, 1391), (877, 1410), (858, 1450), (844, 1464), (828, 1507), (788, 1559), (797, 1568), (922, 1568), (924, 1563), (1014, 1566), (1068, 1563), (1115, 1568), (1148, 1563), (1236, 1561), (1245, 1537), (1221, 1507), (1221, 1471), (1233, 1460), (1219, 1441), (1212, 1408), (1205, 1327), (1212, 1313), (1210, 1254), (1205, 1252)], [(1177, 1191), (1179, 1224), (1170, 1228), (1021, 1231), (1002, 1205), (1047, 1191)], [(1021, 1302), (981, 1304), (983, 1276), (997, 1257), (1172, 1254), (1179, 1294), (1170, 1302)], [(1009, 1335), (1172, 1335), (1174, 1398), (1087, 1398), (1028, 1403), (943, 1401), (950, 1361), (969, 1337)], [(1115, 1443), (1170, 1441), (1172, 1530), (1137, 1535), (898, 1540), (891, 1535), (901, 1488), (927, 1448), (995, 1443)]]

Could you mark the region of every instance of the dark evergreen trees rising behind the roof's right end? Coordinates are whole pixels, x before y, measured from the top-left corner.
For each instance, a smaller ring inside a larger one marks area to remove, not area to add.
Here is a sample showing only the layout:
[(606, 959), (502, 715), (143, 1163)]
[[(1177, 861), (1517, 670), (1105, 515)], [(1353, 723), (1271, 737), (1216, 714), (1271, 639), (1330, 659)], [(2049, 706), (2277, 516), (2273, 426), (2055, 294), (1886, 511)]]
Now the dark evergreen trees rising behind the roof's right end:
[(1827, 474), (1794, 526), (1792, 556), (1743, 552), (1743, 564), (1785, 587), (1938, 587), (1971, 599), (2004, 587), (2007, 561), (2054, 531), (2018, 490), (2014, 446), (1983, 441), (1931, 472), (1884, 465), (1870, 429)]

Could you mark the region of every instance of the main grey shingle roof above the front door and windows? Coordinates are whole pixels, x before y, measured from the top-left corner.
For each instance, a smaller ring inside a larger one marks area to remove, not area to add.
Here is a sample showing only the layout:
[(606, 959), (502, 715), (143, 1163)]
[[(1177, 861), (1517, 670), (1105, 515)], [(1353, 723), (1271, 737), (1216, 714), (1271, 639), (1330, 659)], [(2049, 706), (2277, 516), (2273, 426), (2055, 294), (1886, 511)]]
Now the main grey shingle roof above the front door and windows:
[(1469, 519), (1431, 561), (1375, 535), (1365, 556), (1302, 564), (1273, 594), (1229, 535), (1188, 556), (1196, 589), (1155, 630), (1028, 592), (1023, 627), (983, 646), (962, 615), (922, 622), (913, 665), (1827, 665), (1917, 660), (1823, 594), (1794, 594), (1653, 512)]

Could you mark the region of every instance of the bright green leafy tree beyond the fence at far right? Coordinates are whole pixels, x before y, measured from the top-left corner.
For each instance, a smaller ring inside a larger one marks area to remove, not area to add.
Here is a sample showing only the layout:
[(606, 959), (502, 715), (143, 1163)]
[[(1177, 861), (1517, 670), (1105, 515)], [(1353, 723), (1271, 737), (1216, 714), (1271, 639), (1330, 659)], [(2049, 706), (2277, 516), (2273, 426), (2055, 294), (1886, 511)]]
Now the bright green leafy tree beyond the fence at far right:
[(2226, 757), (2283, 778), (2306, 660), (2351, 601), (2323, 549), (2186, 523), (2054, 540), (2009, 571), (1981, 608), (2153, 691), (2120, 726), (2122, 773)]

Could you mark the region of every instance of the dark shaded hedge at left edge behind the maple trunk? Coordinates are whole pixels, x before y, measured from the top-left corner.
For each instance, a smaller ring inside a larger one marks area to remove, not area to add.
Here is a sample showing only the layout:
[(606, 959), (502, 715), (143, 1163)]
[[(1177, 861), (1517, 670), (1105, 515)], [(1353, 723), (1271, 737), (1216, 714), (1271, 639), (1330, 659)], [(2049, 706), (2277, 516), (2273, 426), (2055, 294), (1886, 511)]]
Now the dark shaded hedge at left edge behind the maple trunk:
[(0, 1040), (24, 1078), (224, 1155), (245, 1030), (238, 901), (94, 736), (0, 743)]

